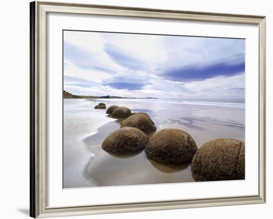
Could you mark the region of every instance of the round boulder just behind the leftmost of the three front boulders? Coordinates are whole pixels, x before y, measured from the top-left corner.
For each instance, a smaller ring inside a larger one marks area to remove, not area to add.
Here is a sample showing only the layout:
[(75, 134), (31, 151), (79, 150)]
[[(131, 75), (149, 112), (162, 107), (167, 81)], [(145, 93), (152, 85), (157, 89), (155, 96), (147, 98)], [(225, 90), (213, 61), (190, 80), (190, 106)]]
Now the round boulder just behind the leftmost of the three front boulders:
[(123, 120), (121, 122), (121, 128), (122, 127), (138, 128), (146, 134), (156, 131), (154, 122), (148, 116), (140, 113), (131, 115), (127, 119)]

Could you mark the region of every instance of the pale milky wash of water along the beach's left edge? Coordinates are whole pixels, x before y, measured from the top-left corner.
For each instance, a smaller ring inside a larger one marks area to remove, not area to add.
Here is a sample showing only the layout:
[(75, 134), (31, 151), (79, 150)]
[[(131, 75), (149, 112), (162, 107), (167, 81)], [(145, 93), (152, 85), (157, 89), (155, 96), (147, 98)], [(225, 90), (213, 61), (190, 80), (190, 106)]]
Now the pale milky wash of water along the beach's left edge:
[(69, 110), (64, 107), (64, 188), (95, 186), (84, 176), (84, 166), (91, 159), (92, 151), (83, 139), (95, 135), (101, 126), (114, 120), (106, 116), (105, 110), (95, 114), (88, 110), (82, 111), (85, 107), (89, 107), (90, 103), (83, 99), (72, 102), (75, 101), (79, 108), (78, 112), (73, 108)]

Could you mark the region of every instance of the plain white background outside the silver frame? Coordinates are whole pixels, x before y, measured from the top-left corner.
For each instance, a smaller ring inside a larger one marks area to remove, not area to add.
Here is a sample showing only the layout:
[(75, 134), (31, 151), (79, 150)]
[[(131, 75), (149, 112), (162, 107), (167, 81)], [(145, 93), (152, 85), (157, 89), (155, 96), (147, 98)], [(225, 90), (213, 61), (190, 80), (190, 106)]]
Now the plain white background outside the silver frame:
[[(59, 1), (59, 0), (55, 0)], [(75, 2), (69, 1), (67, 2)], [(270, 0), (77, 0), (82, 3), (153, 7), (205, 12), (256, 14), (267, 16), (267, 170), (272, 168), (273, 122), (273, 7)], [(27, 218), (29, 212), (29, 1), (1, 2), (0, 34), (0, 218)], [(272, 185), (272, 172), (267, 171), (267, 184)], [(272, 190), (267, 186), (267, 204), (160, 212), (126, 213), (100, 216), (74, 217), (79, 219), (113, 218), (270, 218), (273, 202)], [(72, 219), (72, 218), (71, 218)]]

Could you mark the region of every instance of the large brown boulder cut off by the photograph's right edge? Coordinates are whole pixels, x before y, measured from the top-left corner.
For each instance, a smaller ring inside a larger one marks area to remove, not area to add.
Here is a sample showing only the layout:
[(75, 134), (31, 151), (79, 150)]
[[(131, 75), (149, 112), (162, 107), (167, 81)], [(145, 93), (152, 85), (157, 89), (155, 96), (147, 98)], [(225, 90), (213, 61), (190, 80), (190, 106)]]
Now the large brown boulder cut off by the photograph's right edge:
[(245, 179), (245, 143), (235, 139), (206, 142), (191, 164), (196, 181)]

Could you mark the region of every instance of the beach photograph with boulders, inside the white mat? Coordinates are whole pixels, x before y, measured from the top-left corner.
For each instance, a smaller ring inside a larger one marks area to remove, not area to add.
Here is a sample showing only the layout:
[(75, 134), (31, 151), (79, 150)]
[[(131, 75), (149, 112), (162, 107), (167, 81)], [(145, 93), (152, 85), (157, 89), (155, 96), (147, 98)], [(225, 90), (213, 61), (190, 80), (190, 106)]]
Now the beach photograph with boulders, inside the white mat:
[(63, 188), (245, 179), (245, 39), (63, 31)]

